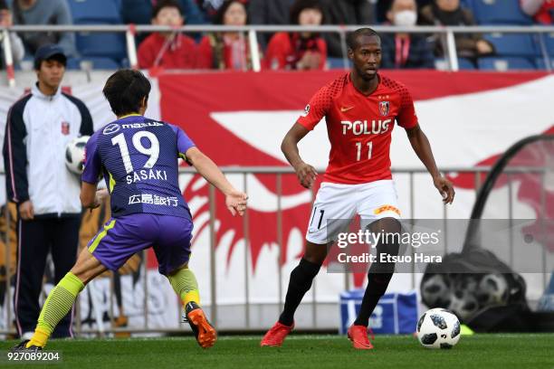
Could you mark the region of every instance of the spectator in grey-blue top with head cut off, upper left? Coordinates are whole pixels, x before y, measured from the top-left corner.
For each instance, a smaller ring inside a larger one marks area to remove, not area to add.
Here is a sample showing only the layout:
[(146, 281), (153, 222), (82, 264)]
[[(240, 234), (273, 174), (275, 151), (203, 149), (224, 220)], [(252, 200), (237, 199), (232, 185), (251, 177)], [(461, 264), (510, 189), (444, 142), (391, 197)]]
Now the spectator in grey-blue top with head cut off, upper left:
[[(72, 14), (65, 0), (14, 0), (14, 24), (72, 24)], [(22, 33), (26, 51), (34, 54), (45, 44), (56, 43), (68, 57), (77, 56), (75, 33)]]

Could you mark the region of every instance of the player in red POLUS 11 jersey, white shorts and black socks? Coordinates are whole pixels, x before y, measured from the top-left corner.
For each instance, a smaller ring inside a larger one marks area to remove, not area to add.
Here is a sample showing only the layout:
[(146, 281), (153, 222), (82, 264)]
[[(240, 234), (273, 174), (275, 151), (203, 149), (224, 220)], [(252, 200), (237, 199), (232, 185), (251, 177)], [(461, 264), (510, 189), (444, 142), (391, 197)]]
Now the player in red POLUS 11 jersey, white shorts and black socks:
[[(282, 345), (291, 332), (294, 312), (327, 257), (327, 220), (348, 220), (358, 213), (372, 232), (400, 232), (389, 157), (395, 121), (406, 129), (411, 146), (432, 176), (444, 203), (454, 200), (453, 185), (436, 167), (410, 93), (403, 84), (377, 73), (381, 61), (379, 35), (370, 28), (361, 28), (350, 33), (347, 42), (353, 62), (351, 71), (320, 89), (282, 140), (282, 152), (301, 185), (310, 188), (317, 173), (302, 161), (298, 142), (325, 118), (330, 160), (310, 214), (304, 256), (291, 271), (284, 309), (279, 321), (263, 336), (263, 346)], [(394, 239), (386, 237), (386, 241), (377, 243), (377, 255), (397, 255), (399, 245)], [(373, 348), (368, 338), (368, 320), (395, 270), (394, 263), (378, 262), (379, 259), (368, 270), (368, 288), (358, 317), (349, 327), (349, 339), (358, 349)]]

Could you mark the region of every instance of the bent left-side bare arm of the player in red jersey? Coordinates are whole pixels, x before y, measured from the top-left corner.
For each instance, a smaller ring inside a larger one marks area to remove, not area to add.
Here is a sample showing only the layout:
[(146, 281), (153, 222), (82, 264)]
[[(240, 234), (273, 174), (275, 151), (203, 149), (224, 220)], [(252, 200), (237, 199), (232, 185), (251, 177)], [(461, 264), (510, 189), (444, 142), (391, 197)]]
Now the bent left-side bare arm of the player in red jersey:
[(316, 175), (318, 175), (318, 172), (316, 172), (313, 166), (304, 163), (298, 152), (298, 143), (308, 132), (310, 131), (307, 128), (296, 123), (289, 132), (287, 132), (281, 143), (282, 153), (296, 171), (301, 185), (306, 188), (310, 188), (311, 185), (313, 185)]

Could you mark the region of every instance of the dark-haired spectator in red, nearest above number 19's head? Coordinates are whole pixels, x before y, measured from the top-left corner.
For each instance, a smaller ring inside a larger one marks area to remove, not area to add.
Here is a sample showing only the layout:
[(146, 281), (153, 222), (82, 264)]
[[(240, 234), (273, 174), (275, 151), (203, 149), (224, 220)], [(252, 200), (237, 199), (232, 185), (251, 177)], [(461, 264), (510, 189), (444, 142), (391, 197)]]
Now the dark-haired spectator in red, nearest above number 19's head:
[[(184, 18), (177, 0), (159, 0), (152, 10), (152, 24), (180, 27)], [(195, 41), (177, 31), (152, 33), (139, 46), (139, 67), (196, 68)]]

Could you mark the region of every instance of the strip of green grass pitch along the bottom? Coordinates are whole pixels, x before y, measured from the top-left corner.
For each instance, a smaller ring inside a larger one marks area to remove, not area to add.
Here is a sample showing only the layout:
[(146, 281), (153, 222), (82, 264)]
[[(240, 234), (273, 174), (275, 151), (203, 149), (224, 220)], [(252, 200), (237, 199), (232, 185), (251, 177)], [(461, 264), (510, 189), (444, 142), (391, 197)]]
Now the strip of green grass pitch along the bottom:
[(430, 350), (413, 336), (377, 336), (374, 350), (351, 347), (346, 336), (291, 335), (282, 347), (260, 347), (261, 336), (221, 336), (208, 350), (193, 337), (52, 341), (62, 363), (1, 367), (139, 368), (548, 368), (554, 369), (554, 334), (462, 336), (451, 350)]

